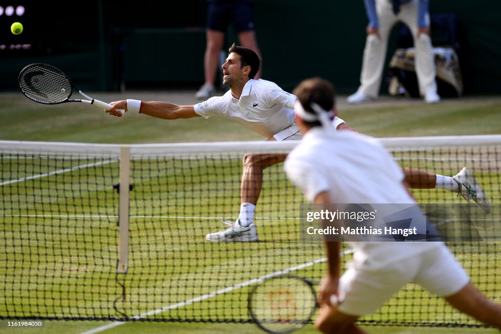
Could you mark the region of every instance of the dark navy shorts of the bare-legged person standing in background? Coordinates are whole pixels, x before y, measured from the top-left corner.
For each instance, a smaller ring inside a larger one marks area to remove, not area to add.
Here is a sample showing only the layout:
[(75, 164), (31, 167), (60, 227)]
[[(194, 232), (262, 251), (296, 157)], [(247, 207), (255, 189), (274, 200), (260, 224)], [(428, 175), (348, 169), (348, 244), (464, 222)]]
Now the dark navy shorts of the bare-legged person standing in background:
[(232, 23), (236, 33), (254, 30), (253, 2), (209, 2), (207, 29), (226, 32)]

